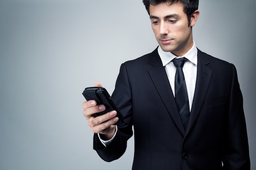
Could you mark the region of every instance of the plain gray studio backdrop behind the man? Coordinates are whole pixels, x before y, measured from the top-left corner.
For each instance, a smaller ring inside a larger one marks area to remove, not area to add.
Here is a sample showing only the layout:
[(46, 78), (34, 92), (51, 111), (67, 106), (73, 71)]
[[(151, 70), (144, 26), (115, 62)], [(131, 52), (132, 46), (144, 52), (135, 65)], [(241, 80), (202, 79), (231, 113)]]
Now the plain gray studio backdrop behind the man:
[[(202, 51), (235, 64), (244, 96), (252, 170), (255, 136), (255, 0), (201, 0), (193, 28)], [(0, 0), (0, 169), (130, 170), (92, 150), (82, 91), (114, 90), (120, 64), (157, 42), (141, 0)]]

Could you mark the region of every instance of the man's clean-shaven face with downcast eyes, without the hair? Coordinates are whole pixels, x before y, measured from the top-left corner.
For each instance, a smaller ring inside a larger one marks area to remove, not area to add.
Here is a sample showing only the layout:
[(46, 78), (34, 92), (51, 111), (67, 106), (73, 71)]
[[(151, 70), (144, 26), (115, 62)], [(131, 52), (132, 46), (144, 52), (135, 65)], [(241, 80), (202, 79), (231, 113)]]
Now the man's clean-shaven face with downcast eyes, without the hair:
[(182, 4), (150, 4), (149, 13), (155, 38), (163, 51), (182, 56), (191, 49), (192, 27), (188, 26)]

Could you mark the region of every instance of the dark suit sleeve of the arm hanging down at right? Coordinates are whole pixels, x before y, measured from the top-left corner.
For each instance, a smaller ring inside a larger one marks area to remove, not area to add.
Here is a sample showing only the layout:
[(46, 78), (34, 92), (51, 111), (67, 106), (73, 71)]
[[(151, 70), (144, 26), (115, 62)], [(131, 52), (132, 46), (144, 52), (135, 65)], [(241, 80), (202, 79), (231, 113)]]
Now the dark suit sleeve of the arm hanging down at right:
[(222, 162), (224, 170), (250, 170), (249, 146), (243, 96), (240, 91), (235, 66), (229, 99), (226, 147), (223, 150)]

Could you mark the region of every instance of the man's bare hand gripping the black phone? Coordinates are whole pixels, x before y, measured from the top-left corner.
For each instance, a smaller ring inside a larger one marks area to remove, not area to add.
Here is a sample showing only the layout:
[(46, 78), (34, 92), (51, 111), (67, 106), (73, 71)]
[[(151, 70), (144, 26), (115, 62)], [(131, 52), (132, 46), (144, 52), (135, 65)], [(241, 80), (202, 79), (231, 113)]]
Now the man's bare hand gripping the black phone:
[[(94, 86), (102, 87), (99, 83), (95, 83)], [(115, 110), (97, 116), (96, 113), (102, 112), (106, 107), (104, 105), (97, 105), (95, 100), (83, 102), (83, 109), (83, 115), (88, 120), (88, 125), (92, 132), (101, 134), (101, 139), (103, 140), (109, 140), (114, 136), (116, 127), (114, 124), (118, 121)]]

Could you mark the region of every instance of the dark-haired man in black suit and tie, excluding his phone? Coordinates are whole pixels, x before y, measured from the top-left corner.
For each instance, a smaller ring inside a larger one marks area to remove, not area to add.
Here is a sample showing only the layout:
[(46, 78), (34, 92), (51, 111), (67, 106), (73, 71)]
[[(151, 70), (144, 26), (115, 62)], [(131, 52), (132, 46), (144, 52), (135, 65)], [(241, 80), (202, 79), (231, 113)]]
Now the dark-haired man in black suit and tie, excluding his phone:
[(133, 170), (249, 170), (236, 68), (196, 48), (198, 0), (143, 2), (160, 47), (121, 65), (112, 98), (124, 126), (113, 125), (115, 111), (96, 117), (105, 107), (83, 103), (94, 149), (105, 161), (118, 159), (134, 126)]

